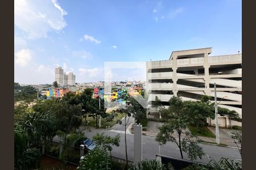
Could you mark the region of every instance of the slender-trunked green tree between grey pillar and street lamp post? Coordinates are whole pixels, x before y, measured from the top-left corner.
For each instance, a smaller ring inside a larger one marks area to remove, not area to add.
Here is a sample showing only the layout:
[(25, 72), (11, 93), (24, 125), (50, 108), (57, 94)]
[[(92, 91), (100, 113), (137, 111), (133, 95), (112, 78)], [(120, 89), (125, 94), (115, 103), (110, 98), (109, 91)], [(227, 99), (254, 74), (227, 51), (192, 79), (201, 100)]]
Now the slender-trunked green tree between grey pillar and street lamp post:
[[(199, 157), (200, 159), (204, 155), (203, 148), (192, 140), (192, 135), (184, 133), (187, 125), (190, 122), (189, 116), (184, 111), (184, 103), (178, 96), (173, 96), (170, 100), (170, 107), (168, 109), (161, 109), (162, 116), (166, 119), (166, 122), (159, 127), (159, 133), (156, 135), (155, 140), (160, 145), (166, 144), (167, 141), (174, 142), (179, 147), (181, 158), (183, 159), (183, 151), (188, 154), (191, 160)], [(176, 139), (178, 135), (179, 139)], [(185, 136), (181, 141), (181, 136)], [(192, 152), (189, 151), (191, 148)]]

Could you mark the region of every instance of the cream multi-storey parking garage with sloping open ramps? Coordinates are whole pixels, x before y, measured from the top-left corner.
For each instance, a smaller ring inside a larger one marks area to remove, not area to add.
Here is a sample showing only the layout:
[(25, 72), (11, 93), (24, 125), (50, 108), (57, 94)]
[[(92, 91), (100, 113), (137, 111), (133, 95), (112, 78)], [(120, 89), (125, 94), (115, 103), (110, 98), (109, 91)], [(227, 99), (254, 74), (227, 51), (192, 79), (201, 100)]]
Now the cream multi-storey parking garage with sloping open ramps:
[(209, 95), (214, 101), (216, 83), (218, 106), (242, 117), (242, 54), (209, 56), (211, 52), (212, 48), (180, 50), (172, 52), (168, 60), (147, 62), (148, 100), (158, 96), (167, 106), (172, 95), (183, 100)]

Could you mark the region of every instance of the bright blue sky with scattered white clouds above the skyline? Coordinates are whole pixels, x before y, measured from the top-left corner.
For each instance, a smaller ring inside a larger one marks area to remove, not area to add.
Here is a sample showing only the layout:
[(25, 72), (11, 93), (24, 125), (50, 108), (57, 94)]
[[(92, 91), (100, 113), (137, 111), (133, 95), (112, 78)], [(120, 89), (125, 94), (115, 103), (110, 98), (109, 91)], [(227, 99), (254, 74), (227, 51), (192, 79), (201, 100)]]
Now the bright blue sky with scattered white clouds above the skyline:
[[(205, 47), (211, 56), (242, 52), (241, 3), (15, 0), (14, 81), (52, 83), (61, 66), (76, 82), (97, 82), (105, 61), (164, 60)], [(116, 71), (122, 79), (138, 73)]]

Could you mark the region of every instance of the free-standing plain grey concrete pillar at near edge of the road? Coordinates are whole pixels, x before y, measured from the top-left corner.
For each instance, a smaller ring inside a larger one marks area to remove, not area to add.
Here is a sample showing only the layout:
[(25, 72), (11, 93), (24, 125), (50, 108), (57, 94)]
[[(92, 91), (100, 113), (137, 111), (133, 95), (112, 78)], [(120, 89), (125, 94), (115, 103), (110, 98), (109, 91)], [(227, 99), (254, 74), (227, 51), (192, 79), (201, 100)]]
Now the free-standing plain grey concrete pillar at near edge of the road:
[(134, 165), (142, 160), (142, 125), (134, 125)]

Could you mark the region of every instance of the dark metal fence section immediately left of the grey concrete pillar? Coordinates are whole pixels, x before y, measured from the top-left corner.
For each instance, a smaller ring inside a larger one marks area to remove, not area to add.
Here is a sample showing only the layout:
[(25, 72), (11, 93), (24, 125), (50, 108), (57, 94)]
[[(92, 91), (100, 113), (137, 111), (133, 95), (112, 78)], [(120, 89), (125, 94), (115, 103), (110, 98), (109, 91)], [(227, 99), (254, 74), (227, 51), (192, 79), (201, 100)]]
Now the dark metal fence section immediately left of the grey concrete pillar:
[(131, 162), (130, 160), (121, 159), (114, 156), (110, 156), (110, 162), (112, 164), (113, 170), (127, 170), (133, 167), (133, 162)]

